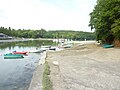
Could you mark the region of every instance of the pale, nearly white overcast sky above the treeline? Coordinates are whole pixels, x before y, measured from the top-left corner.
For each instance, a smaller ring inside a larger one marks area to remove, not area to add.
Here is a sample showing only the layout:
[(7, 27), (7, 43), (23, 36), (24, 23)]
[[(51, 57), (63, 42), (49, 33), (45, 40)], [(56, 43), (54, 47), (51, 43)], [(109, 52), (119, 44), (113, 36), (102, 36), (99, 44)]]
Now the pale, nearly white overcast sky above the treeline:
[(0, 26), (14, 29), (91, 31), (96, 0), (0, 0)]

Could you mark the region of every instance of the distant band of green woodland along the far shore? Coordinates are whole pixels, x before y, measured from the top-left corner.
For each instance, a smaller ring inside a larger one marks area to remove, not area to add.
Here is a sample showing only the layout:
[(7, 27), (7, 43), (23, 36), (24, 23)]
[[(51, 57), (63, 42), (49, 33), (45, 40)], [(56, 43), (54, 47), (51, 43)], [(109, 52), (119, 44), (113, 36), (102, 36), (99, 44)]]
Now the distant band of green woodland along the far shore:
[(9, 28), (0, 27), (0, 33), (4, 33), (9, 36), (20, 38), (64, 38), (73, 40), (94, 40), (95, 34), (93, 32), (83, 31), (71, 31), (71, 30), (15, 30)]

